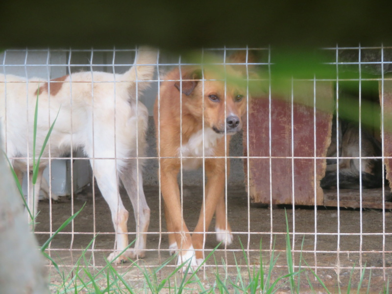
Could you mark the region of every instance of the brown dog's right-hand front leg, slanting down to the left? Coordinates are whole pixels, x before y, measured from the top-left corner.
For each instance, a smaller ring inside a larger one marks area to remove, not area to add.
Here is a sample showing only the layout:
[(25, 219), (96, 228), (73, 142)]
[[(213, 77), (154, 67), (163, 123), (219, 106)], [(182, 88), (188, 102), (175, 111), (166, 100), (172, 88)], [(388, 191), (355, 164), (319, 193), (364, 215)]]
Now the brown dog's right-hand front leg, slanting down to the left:
[(211, 159), (210, 161), (206, 161), (205, 167), (208, 178), (206, 196), (203, 201), (203, 206), (201, 207), (199, 220), (197, 221), (194, 234), (192, 235), (192, 244), (195, 247), (196, 260), (199, 263), (203, 260), (203, 232), (208, 230), (208, 227), (210, 226), (217, 205), (223, 196), (225, 182), (223, 159)]

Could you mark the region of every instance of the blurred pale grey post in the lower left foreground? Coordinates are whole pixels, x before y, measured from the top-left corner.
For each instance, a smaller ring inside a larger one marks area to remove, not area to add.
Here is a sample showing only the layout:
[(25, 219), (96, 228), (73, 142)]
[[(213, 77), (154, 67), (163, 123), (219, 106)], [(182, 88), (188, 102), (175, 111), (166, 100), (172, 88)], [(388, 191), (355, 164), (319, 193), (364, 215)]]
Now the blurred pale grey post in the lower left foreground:
[(43, 256), (30, 232), (23, 201), (1, 150), (0, 174), (0, 293), (49, 293)]

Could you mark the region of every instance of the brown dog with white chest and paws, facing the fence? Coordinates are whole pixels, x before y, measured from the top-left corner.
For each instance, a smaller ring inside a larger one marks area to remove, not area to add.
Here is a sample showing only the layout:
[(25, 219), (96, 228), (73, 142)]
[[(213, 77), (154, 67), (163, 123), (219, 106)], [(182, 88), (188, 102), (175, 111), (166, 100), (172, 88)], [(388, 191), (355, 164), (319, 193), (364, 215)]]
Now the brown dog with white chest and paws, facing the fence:
[[(229, 57), (228, 61), (245, 63), (246, 54), (238, 52)], [(229, 82), (229, 79), (224, 80), (223, 73), (231, 80), (244, 80), (244, 70), (245, 65), (204, 67), (203, 71), (200, 67), (181, 66), (163, 78), (160, 95), (155, 102), (161, 190), (167, 229), (173, 232), (169, 234), (170, 249), (181, 249), (177, 264), (188, 261), (193, 270), (203, 261), (202, 233), (204, 228), (208, 229), (214, 212), (218, 242), (229, 245), (233, 240), (230, 225), (227, 223), (226, 227), (225, 218), (224, 186), (229, 161), (226, 171), (224, 157), (228, 155), (231, 135), (243, 126), (246, 88), (236, 82)], [(182, 219), (177, 174), (181, 161), (184, 170), (194, 170), (202, 166), (203, 159), (208, 178), (203, 203), (205, 210), (202, 207), (191, 238)]]

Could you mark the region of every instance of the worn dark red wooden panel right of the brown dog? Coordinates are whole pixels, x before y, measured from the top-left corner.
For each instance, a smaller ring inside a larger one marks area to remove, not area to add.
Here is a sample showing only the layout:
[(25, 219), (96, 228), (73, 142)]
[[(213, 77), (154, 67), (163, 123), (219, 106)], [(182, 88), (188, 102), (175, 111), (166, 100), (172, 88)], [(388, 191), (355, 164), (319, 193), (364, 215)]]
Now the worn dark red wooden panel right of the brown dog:
[[(314, 83), (297, 82), (285, 97), (255, 98), (249, 107), (249, 192), (256, 203), (313, 205), (315, 202), (315, 163), (317, 204), (323, 203), (319, 181), (324, 176), (325, 160), (315, 162), (316, 156), (326, 155), (330, 144), (332, 84), (316, 84), (316, 144)], [(269, 105), (271, 103), (271, 113)], [(293, 105), (293, 107), (292, 107)], [(269, 122), (271, 114), (271, 122)], [(292, 121), (294, 128), (292, 131)], [(271, 128), (271, 136), (270, 136)], [(294, 141), (292, 137), (294, 135)], [(271, 143), (270, 143), (271, 142)], [(271, 144), (271, 152), (270, 152)], [(295, 158), (294, 157), (310, 157)], [(244, 132), (246, 156), (246, 129)], [(265, 157), (265, 158), (253, 158)], [(245, 174), (247, 172), (245, 160)], [(270, 177), (271, 172), (271, 177)], [(293, 183), (294, 173), (294, 183)]]

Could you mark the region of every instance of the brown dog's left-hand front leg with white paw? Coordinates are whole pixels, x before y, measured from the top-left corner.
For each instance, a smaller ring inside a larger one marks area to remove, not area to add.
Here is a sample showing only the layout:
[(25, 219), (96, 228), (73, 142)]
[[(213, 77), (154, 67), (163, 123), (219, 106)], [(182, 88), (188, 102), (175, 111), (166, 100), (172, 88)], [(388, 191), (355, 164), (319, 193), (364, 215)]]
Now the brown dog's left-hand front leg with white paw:
[(163, 167), (161, 168), (161, 191), (166, 206), (165, 217), (169, 224), (168, 229), (174, 232), (177, 248), (179, 249), (177, 265), (187, 262), (182, 268), (185, 271), (190, 262), (191, 268), (196, 270), (198, 265), (195, 258), (195, 249), (192, 245), (189, 230), (181, 217), (181, 201), (177, 184), (178, 168), (165, 169), (164, 163), (161, 166)]

